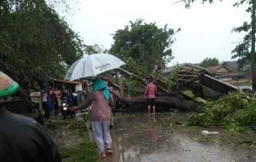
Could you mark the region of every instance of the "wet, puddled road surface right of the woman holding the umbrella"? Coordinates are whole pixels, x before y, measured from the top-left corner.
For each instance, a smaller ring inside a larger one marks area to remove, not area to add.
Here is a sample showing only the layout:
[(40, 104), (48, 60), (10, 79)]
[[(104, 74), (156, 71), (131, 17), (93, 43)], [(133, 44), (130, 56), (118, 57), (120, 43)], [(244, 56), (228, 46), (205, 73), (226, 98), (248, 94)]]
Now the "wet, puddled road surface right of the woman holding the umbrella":
[[(237, 144), (253, 135), (225, 130), (170, 126), (189, 113), (117, 113), (111, 129), (114, 153), (101, 161), (256, 161), (256, 146)], [(219, 133), (202, 133), (202, 130)], [(92, 136), (91, 136), (92, 137)], [(93, 137), (92, 137), (93, 140)]]

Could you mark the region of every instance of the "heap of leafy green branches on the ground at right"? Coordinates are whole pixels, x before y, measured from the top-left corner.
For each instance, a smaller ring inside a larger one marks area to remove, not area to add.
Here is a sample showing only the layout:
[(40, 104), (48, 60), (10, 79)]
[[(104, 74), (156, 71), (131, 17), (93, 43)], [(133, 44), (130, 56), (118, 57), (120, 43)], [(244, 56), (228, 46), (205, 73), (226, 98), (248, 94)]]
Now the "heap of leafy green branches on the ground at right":
[(221, 126), (231, 132), (255, 132), (256, 98), (242, 92), (232, 92), (193, 113), (189, 126)]

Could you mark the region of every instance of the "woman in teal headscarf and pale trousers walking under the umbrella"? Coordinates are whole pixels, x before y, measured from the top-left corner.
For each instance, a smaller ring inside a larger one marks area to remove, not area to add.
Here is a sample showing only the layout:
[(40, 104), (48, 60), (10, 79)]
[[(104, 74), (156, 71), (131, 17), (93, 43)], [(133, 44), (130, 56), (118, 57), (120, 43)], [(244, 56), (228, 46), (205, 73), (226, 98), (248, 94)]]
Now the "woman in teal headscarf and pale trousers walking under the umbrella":
[(72, 111), (83, 110), (91, 104), (91, 122), (92, 133), (96, 144), (100, 150), (100, 157), (106, 157), (104, 144), (107, 146), (107, 152), (112, 153), (112, 139), (109, 133), (109, 106), (113, 107), (114, 102), (109, 97), (109, 91), (106, 83), (100, 78), (92, 81), (92, 93), (89, 93), (85, 102), (80, 106), (74, 106)]

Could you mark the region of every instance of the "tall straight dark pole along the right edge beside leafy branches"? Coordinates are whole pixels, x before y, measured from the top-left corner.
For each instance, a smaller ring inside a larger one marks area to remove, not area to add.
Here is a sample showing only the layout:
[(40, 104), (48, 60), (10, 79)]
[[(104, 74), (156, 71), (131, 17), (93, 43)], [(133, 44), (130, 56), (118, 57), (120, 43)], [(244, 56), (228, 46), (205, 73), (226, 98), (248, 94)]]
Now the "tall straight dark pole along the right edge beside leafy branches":
[(252, 78), (252, 89), (256, 89), (256, 69), (255, 69), (255, 1), (253, 3), (252, 14), (251, 14), (251, 78)]

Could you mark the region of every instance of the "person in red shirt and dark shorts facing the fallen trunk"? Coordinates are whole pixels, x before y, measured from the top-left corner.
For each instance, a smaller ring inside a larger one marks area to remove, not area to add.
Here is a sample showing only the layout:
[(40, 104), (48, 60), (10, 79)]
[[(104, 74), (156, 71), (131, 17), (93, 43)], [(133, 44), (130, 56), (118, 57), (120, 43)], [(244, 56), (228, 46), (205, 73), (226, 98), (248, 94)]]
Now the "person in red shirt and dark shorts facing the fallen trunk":
[(156, 91), (157, 88), (153, 83), (153, 80), (149, 80), (149, 84), (146, 87), (144, 98), (147, 95), (147, 106), (148, 106), (148, 115), (150, 115), (150, 108), (152, 107), (153, 114), (155, 114), (156, 110)]

